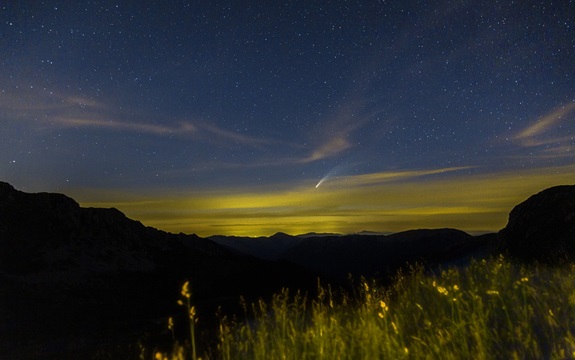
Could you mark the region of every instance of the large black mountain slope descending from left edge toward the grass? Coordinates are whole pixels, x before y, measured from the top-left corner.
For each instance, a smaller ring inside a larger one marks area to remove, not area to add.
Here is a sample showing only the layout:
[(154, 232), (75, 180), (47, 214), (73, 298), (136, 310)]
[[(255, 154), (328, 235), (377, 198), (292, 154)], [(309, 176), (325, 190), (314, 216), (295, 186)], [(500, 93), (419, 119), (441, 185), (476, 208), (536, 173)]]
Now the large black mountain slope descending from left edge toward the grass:
[(0, 357), (86, 358), (135, 344), (181, 312), (175, 302), (187, 279), (204, 317), (236, 306), (240, 295), (316, 280), (289, 264), (145, 227), (116, 209), (0, 182)]

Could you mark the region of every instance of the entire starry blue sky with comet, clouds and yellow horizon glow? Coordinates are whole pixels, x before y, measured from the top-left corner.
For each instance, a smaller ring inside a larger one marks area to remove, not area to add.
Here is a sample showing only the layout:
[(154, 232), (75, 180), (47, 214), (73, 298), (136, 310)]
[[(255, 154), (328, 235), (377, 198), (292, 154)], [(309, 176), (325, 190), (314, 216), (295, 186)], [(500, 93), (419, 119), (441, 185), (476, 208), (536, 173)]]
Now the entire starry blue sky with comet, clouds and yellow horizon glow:
[(455, 227), (575, 183), (575, 1), (0, 3), (0, 180), (172, 232)]

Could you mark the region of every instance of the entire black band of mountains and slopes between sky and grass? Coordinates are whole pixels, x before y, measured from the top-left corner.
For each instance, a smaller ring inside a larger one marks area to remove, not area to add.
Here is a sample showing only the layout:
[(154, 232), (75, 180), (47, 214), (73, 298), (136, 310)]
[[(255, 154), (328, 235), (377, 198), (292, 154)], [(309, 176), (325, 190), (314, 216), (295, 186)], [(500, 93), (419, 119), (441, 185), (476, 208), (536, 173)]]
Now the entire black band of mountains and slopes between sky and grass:
[[(313, 292), (318, 276), (336, 285), (349, 273), (385, 281), (408, 262), (465, 264), (494, 251), (568, 259), (575, 254), (574, 224), (575, 186), (564, 186), (518, 205), (499, 234), (421, 229), (200, 238), (0, 182), (0, 356), (103, 357), (144, 334), (165, 333), (167, 317), (181, 312), (175, 302), (186, 280), (209, 327), (216, 308), (234, 312), (240, 296), (267, 297), (282, 287)], [(558, 239), (545, 240), (549, 251), (533, 250), (549, 233)]]

